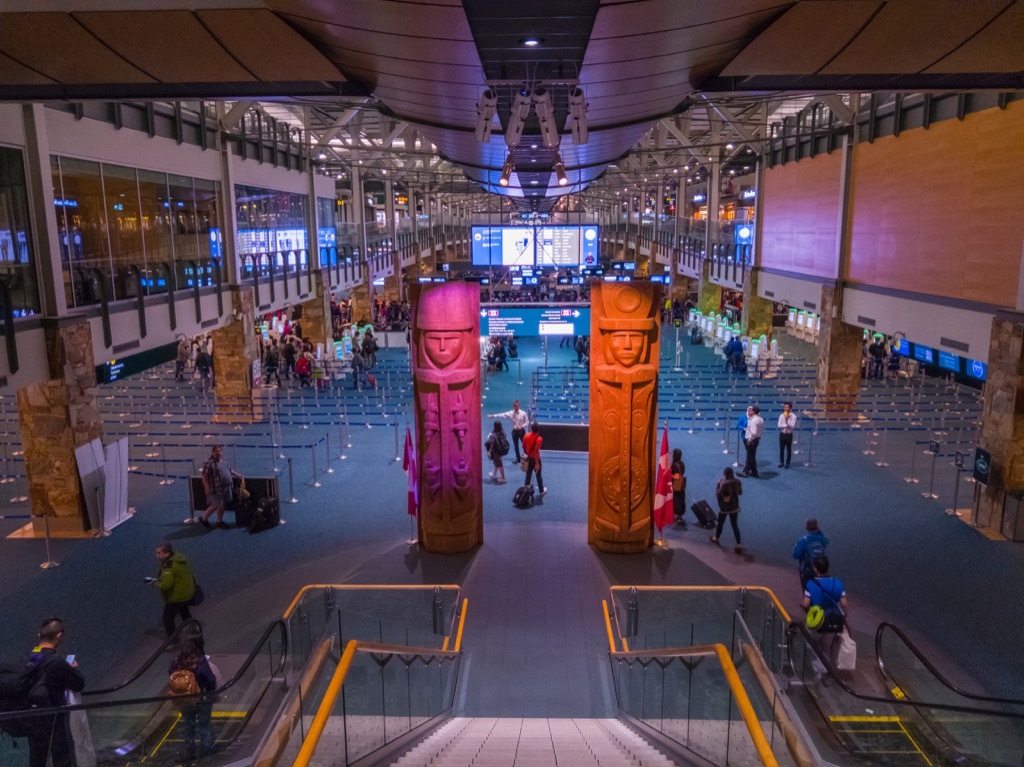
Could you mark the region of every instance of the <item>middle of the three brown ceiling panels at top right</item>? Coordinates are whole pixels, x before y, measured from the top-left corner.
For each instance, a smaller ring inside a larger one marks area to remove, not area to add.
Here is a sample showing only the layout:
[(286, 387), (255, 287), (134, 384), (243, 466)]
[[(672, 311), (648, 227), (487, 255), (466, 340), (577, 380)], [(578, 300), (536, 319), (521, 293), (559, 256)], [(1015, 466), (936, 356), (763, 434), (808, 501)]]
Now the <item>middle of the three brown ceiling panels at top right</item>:
[(889, 0), (822, 75), (924, 72), (967, 42), (1006, 7), (1005, 0)]

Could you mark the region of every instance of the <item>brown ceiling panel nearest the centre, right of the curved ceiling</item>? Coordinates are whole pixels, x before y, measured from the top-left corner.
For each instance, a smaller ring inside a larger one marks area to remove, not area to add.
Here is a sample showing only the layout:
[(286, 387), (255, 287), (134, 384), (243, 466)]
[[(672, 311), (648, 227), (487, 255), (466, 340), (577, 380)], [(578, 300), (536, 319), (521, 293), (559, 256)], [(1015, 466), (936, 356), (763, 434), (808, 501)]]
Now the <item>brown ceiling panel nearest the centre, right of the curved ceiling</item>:
[[(857, 36), (880, 0), (816, 0), (794, 5), (722, 71), (723, 77), (815, 73)], [(794, 45), (799, 40), (800, 45)]]

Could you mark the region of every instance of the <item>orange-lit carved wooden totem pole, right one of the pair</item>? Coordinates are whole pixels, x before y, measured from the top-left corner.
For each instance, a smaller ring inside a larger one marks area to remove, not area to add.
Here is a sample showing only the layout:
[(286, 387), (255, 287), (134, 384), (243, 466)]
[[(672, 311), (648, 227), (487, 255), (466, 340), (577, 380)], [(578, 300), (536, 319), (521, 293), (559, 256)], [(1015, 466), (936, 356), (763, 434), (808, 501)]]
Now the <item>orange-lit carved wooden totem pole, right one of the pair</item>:
[(651, 544), (657, 423), (658, 286), (591, 285), (587, 540), (635, 554)]

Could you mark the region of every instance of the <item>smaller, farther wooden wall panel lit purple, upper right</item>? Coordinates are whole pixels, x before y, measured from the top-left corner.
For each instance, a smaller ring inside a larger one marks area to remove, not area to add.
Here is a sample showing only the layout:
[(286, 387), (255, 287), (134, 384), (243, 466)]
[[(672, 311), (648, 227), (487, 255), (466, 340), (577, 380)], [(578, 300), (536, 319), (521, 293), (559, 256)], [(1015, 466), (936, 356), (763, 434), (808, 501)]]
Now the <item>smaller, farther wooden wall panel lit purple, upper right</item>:
[(764, 172), (761, 265), (836, 279), (840, 152)]

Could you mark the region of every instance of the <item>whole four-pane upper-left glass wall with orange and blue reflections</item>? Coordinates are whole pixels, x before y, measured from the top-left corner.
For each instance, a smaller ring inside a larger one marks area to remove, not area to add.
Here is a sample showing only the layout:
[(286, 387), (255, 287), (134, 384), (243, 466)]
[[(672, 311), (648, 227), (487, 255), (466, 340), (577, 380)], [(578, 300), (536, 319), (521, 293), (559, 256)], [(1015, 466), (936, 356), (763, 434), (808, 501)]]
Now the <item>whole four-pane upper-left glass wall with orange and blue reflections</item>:
[[(74, 158), (50, 160), (69, 306), (212, 285), (216, 181)], [(138, 276), (135, 274), (138, 268)]]

